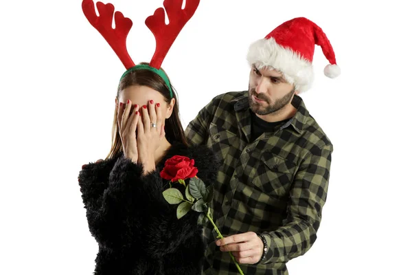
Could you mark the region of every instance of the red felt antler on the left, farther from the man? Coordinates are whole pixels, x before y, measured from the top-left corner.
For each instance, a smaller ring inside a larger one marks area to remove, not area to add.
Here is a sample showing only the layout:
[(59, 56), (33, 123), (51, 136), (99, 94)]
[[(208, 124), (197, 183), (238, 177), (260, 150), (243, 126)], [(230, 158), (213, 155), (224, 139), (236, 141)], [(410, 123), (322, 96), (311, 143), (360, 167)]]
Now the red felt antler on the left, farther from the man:
[(122, 61), (124, 67), (129, 69), (135, 66), (130, 58), (127, 48), (126, 39), (128, 32), (132, 28), (132, 21), (123, 16), (122, 12), (115, 12), (115, 29), (112, 28), (113, 12), (115, 7), (111, 3), (106, 5), (102, 2), (96, 3), (100, 17), (95, 12), (93, 0), (83, 0), (82, 9), (91, 25), (102, 34), (108, 45), (112, 47), (117, 56)]

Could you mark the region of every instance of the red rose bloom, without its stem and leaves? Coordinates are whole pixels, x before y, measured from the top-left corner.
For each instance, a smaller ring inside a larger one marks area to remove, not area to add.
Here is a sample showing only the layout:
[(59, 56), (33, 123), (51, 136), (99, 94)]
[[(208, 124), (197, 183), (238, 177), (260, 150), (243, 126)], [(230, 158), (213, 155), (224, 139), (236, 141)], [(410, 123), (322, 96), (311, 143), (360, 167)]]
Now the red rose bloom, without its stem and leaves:
[(198, 169), (194, 167), (194, 159), (175, 155), (166, 160), (165, 167), (160, 172), (163, 179), (168, 179), (172, 182), (179, 179), (187, 179), (196, 176)]

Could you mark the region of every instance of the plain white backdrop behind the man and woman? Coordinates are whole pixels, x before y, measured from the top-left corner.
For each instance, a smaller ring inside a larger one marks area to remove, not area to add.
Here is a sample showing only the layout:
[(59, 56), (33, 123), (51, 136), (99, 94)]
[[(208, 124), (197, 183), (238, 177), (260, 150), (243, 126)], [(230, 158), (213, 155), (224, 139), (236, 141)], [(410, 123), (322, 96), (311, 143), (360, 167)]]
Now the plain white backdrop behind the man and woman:
[[(405, 1), (202, 0), (163, 68), (183, 126), (209, 100), (247, 89), (249, 44), (294, 17), (328, 35), (342, 69), (314, 54), (302, 97), (334, 144), (318, 240), (297, 274), (412, 274), (411, 26)], [(106, 2), (104, 2), (106, 3)], [(128, 50), (150, 61), (144, 19), (163, 1), (113, 0), (133, 20)], [(122, 63), (81, 1), (0, 5), (0, 274), (92, 274), (98, 246), (80, 197), (82, 164), (106, 157)]]

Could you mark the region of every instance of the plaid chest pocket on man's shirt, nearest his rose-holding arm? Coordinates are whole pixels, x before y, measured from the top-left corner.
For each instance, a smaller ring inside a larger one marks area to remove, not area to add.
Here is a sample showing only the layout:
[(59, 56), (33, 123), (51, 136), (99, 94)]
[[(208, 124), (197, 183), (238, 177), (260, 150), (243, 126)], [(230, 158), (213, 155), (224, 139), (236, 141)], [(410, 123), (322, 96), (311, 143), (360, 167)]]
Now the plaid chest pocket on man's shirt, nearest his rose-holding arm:
[(290, 160), (266, 152), (256, 164), (256, 173), (252, 182), (266, 195), (283, 196), (290, 189), (295, 168), (296, 164)]

